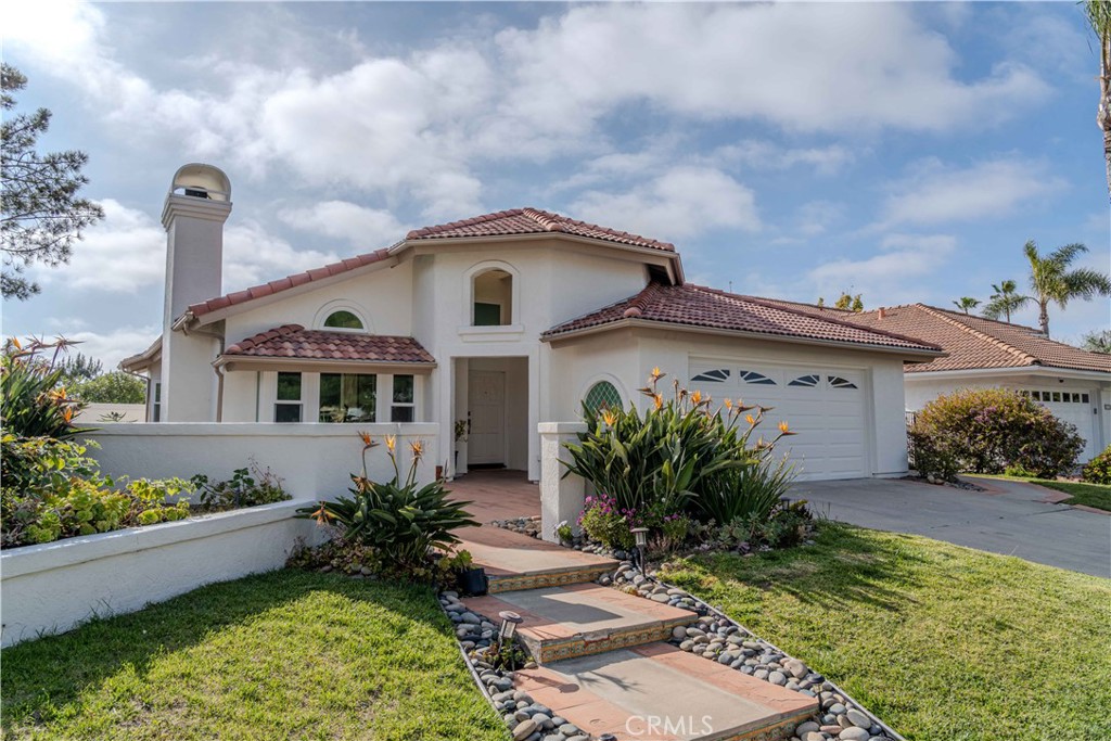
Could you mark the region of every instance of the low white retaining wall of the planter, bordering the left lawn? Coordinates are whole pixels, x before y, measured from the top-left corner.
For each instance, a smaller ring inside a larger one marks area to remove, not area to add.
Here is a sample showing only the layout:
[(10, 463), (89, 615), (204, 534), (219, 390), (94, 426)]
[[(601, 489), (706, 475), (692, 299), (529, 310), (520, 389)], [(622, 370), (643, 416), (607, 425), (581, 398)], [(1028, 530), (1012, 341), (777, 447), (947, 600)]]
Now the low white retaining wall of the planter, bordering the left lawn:
[(0, 553), (2, 645), (132, 612), (202, 584), (280, 568), (311, 520), (300, 499)]

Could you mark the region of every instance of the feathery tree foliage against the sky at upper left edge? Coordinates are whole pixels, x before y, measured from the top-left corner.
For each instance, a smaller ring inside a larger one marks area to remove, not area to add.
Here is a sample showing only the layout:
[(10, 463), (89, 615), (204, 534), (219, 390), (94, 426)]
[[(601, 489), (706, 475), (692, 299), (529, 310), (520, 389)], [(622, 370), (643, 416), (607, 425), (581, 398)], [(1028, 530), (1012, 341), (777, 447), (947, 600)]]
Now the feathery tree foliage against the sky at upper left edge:
[(81, 230), (104, 216), (100, 206), (78, 198), (78, 191), (89, 182), (81, 173), (88, 154), (36, 151), (38, 138), (50, 127), (50, 111), (40, 108), (34, 113), (7, 114), (16, 107), (12, 93), (26, 86), (27, 77), (18, 69), (0, 64), (0, 108), (6, 113), (0, 126), (0, 292), (20, 300), (39, 292), (23, 270), (34, 262), (51, 267), (69, 262)]

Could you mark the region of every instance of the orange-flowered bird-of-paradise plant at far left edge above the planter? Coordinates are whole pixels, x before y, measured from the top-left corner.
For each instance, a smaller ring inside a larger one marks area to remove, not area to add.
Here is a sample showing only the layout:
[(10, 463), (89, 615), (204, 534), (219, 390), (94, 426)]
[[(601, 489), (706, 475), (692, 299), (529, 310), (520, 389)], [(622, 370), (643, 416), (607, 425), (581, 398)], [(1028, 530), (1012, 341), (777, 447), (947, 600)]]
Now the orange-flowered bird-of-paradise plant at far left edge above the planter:
[[(3, 431), (21, 438), (70, 438), (81, 430), (73, 415), (83, 404), (70, 399), (59, 385), (63, 368), (56, 361), (67, 343), (31, 341), (24, 348), (19, 340), (8, 340), (0, 356), (0, 417)], [(49, 361), (41, 358), (50, 350)]]

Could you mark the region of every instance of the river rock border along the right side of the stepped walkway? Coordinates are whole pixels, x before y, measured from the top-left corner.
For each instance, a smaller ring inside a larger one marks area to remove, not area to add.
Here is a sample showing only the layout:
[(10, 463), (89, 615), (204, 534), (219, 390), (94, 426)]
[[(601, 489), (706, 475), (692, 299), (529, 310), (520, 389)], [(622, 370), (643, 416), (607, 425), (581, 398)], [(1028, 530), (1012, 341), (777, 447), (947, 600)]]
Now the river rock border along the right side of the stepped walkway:
[(817, 698), (821, 710), (800, 723), (791, 741), (905, 741), (868, 712), (848, 692), (774, 644), (689, 592), (644, 574), (632, 561), (621, 561), (598, 583), (644, 599), (695, 612), (690, 627), (675, 628), (669, 643), (745, 674)]

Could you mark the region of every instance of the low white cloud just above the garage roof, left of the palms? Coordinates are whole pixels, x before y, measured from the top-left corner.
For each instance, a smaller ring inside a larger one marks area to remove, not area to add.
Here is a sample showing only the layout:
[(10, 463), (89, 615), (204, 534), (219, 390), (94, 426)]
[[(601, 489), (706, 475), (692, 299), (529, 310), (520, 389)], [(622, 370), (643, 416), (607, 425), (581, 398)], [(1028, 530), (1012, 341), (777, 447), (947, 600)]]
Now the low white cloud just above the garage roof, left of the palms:
[(921, 300), (922, 280), (942, 269), (957, 249), (948, 234), (889, 234), (881, 252), (861, 260), (841, 258), (807, 273), (818, 296), (863, 293), (870, 307)]

